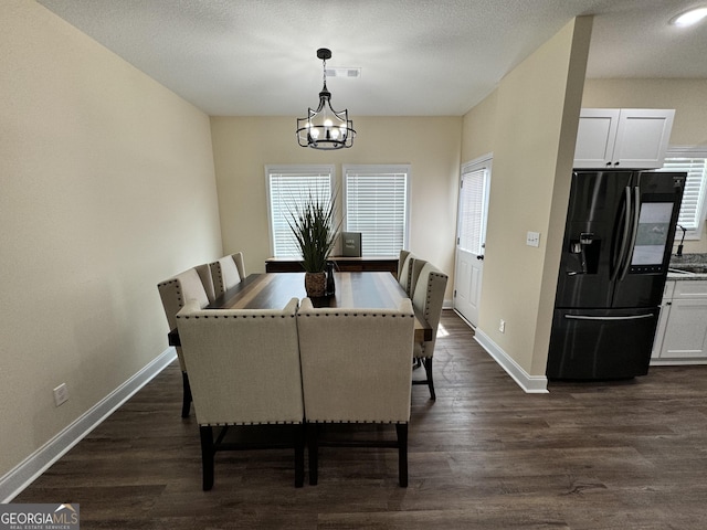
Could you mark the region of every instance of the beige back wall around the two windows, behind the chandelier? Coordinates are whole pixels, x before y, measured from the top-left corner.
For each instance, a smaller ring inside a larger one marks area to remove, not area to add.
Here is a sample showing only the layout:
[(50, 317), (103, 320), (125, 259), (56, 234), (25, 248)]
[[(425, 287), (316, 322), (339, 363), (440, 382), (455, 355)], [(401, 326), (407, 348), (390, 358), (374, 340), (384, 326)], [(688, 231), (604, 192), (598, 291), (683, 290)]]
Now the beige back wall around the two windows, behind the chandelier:
[[(306, 109), (303, 109), (306, 110)], [(244, 251), (247, 272), (263, 272), (271, 255), (265, 166), (410, 163), (410, 250), (450, 274), (454, 271), (461, 117), (354, 117), (351, 149), (299, 147), (295, 118), (212, 117), (214, 163), (226, 253)]]

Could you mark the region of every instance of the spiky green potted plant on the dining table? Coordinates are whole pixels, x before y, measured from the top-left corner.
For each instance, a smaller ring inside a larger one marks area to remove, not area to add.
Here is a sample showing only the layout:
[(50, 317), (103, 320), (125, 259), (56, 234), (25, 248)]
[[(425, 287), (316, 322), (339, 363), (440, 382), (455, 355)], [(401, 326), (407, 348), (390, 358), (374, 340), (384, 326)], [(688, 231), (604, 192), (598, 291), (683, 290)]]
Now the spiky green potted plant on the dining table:
[(327, 259), (336, 243), (335, 200), (309, 193), (307, 200), (294, 208), (287, 220), (302, 254), (305, 269), (305, 290), (309, 298), (325, 296)]

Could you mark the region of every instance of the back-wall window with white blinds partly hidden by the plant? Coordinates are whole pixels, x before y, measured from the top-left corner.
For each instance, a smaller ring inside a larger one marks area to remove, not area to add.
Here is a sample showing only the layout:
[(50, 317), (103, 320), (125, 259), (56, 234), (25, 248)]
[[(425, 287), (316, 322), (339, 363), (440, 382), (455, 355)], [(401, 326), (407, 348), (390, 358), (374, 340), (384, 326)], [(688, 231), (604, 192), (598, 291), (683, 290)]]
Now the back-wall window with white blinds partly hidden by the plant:
[(310, 194), (331, 198), (334, 166), (267, 166), (271, 252), (274, 257), (300, 257), (289, 229), (292, 213)]

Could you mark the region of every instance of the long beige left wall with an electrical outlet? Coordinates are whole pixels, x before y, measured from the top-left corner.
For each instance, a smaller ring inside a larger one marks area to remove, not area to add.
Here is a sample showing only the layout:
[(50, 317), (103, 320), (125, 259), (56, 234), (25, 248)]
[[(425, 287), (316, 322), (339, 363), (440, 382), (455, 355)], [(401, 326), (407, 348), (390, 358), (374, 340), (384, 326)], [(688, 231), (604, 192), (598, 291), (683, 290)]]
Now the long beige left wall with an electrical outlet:
[(33, 1), (0, 50), (2, 476), (167, 349), (156, 284), (221, 239), (204, 114)]

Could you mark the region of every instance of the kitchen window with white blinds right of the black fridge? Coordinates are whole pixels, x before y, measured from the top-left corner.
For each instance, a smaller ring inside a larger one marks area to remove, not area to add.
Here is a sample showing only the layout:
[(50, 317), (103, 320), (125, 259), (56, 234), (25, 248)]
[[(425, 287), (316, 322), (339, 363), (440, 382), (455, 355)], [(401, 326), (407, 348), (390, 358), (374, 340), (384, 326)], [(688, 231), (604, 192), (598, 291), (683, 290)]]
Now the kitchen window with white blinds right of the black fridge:
[(699, 239), (705, 220), (707, 149), (671, 148), (665, 156), (663, 168), (658, 171), (685, 171), (687, 173), (677, 224), (687, 231), (687, 239)]

